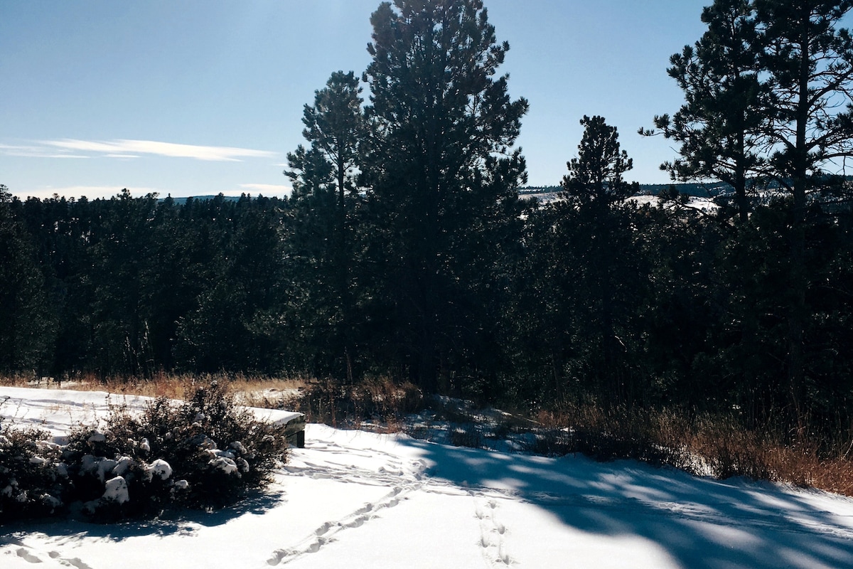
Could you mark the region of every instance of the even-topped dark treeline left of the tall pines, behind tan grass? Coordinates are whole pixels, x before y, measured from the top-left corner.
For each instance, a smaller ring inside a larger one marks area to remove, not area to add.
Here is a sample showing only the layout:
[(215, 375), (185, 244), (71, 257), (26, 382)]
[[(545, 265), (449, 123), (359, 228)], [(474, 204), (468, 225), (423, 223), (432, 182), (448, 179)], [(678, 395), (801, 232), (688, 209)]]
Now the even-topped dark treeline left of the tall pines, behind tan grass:
[(280, 365), (255, 328), (282, 279), (280, 200), (0, 202), (4, 371)]

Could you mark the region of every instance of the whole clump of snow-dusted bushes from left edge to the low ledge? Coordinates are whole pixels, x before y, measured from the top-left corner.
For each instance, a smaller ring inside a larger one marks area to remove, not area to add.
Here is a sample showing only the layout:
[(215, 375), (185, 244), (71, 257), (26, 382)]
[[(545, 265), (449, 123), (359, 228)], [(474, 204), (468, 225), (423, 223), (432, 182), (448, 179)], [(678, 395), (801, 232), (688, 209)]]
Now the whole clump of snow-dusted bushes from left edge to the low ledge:
[(285, 427), (258, 421), (213, 385), (185, 403), (159, 398), (141, 413), (113, 406), (99, 428), (67, 444), (28, 428), (0, 429), (0, 523), (65, 514), (152, 517), (170, 506), (221, 508), (263, 487), (287, 458)]

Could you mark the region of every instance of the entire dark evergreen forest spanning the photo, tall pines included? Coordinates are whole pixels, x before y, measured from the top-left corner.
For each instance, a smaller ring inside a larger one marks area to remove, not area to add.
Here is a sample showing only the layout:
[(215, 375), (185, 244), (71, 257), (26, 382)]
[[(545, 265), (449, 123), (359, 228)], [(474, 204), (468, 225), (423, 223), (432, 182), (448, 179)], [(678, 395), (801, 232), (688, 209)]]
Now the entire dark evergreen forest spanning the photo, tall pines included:
[(367, 70), (305, 105), (287, 199), (0, 190), (0, 370), (384, 376), (849, 427), (851, 6), (705, 9), (670, 61), (683, 107), (642, 131), (679, 144), (674, 180), (731, 189), (699, 211), (625, 200), (632, 162), (599, 116), (564, 199), (519, 199), (528, 103), (482, 3), (382, 3)]

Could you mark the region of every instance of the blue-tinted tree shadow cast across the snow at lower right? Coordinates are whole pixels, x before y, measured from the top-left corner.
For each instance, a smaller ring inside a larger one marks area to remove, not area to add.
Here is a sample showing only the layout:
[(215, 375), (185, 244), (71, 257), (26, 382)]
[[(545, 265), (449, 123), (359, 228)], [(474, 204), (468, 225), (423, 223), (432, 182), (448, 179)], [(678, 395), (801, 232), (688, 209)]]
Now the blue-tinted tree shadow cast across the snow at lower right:
[[(742, 479), (695, 478), (639, 462), (507, 455), (400, 438), (427, 475), (469, 491), (516, 496), (578, 531), (641, 537), (691, 569), (851, 567), (853, 520), (803, 491)], [(830, 497), (844, 501), (848, 498)], [(823, 502), (826, 503), (826, 502)]]

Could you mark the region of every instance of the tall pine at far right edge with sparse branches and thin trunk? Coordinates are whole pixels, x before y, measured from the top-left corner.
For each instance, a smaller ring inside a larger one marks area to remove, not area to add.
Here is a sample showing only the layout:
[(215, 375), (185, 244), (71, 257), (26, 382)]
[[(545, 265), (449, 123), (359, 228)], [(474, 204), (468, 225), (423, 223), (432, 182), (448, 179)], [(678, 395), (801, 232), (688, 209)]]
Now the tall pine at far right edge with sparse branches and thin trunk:
[(754, 5), (763, 48), (759, 62), (772, 102), (763, 110), (763, 131), (773, 149), (769, 174), (791, 195), (786, 376), (799, 420), (805, 413), (809, 317), (807, 197), (827, 187), (827, 168), (853, 156), (853, 38), (838, 27), (853, 2)]

